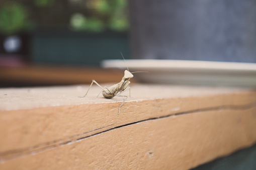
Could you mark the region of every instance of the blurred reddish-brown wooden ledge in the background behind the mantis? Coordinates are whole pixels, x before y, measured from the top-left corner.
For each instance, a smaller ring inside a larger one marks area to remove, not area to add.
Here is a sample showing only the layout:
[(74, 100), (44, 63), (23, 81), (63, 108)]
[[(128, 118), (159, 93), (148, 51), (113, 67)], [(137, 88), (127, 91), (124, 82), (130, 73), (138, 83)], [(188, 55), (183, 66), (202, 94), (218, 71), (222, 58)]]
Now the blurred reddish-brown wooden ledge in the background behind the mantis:
[(124, 72), (87, 66), (24, 65), (0, 67), (0, 87), (71, 85), (120, 81)]

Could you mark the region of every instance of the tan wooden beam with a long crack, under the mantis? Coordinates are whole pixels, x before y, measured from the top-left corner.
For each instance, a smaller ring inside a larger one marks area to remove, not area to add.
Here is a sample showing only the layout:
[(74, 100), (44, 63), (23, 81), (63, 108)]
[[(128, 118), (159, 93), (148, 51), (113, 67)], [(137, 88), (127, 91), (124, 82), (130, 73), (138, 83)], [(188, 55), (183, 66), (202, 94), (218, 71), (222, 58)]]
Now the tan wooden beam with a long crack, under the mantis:
[(0, 169), (189, 169), (256, 143), (255, 90), (134, 84), (118, 115), (88, 87), (0, 89)]

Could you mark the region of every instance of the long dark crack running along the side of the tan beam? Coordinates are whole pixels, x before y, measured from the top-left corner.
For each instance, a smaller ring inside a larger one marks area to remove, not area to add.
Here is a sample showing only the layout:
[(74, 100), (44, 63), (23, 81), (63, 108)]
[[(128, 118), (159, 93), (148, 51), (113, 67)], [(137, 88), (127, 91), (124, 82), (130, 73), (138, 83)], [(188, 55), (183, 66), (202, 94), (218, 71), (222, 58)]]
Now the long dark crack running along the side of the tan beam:
[(241, 106), (226, 105), (226, 106), (216, 106), (216, 107), (195, 109), (195, 110), (179, 112), (179, 113), (175, 113), (175, 114), (168, 114), (168, 115), (164, 115), (164, 116), (143, 119), (143, 120), (139, 120), (139, 121), (136, 121), (136, 122), (131, 122), (131, 123), (119, 125), (119, 126), (116, 126), (116, 127), (112, 127), (112, 128), (109, 128), (109, 129), (106, 129), (106, 130), (103, 130), (103, 131), (100, 131), (100, 132), (97, 132), (97, 133), (94, 133), (94, 134), (91, 134), (91, 135), (88, 135), (88, 136), (68, 140), (68, 139), (75, 138), (77, 136), (84, 135), (84, 134), (87, 134), (87, 133), (90, 133), (90, 132), (93, 132), (93, 131), (97, 131), (97, 130), (100, 130), (100, 129), (103, 129), (105, 127), (109, 127), (109, 126), (113, 125), (113, 124), (111, 124), (111, 125), (107, 125), (107, 126), (104, 126), (104, 127), (92, 130), (92, 131), (84, 132), (82, 134), (73, 135), (73, 136), (68, 137), (66, 139), (47, 142), (47, 143), (43, 143), (43, 144), (40, 144), (40, 145), (35, 145), (35, 146), (32, 146), (32, 147), (29, 147), (29, 148), (19, 149), (19, 150), (17, 149), (17, 150), (9, 150), (9, 151), (5, 151), (5, 152), (0, 152), (0, 156), (1, 156), (0, 157), (0, 163), (4, 163), (5, 161), (13, 160), (13, 159), (16, 159), (16, 158), (19, 158), (19, 157), (22, 157), (22, 156), (26, 156), (26, 155), (37, 154), (37, 153), (40, 153), (42, 151), (46, 151), (46, 150), (49, 150), (49, 149), (52, 149), (52, 148), (55, 148), (55, 147), (59, 147), (59, 146), (63, 146), (63, 145), (66, 145), (66, 144), (72, 144), (72, 143), (75, 143), (75, 142), (79, 142), (79, 141), (84, 140), (84, 139), (89, 138), (89, 137), (93, 137), (93, 136), (96, 136), (96, 135), (99, 135), (99, 134), (102, 134), (102, 133), (105, 133), (105, 132), (108, 132), (108, 131), (111, 131), (111, 130), (115, 130), (115, 129), (122, 128), (122, 127), (125, 127), (125, 126), (136, 124), (136, 123), (141, 123), (141, 122), (144, 122), (144, 121), (162, 119), (162, 118), (167, 118), (167, 117), (170, 117), (170, 116), (179, 116), (179, 115), (184, 115), (184, 114), (199, 113), (199, 112), (204, 112), (204, 111), (214, 111), (214, 110), (217, 111), (217, 110), (227, 110), (227, 109), (229, 109), (229, 110), (247, 110), (247, 109), (251, 109), (251, 108), (254, 108), (254, 107), (256, 107), (256, 101), (252, 102), (250, 104), (241, 105)]

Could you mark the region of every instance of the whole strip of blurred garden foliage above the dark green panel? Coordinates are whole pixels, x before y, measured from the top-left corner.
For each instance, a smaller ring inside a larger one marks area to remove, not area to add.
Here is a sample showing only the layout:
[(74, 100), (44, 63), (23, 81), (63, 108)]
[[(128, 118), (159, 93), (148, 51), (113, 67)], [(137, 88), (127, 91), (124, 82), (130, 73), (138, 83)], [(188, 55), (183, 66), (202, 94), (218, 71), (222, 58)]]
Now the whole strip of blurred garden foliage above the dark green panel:
[[(42, 26), (96, 33), (105, 30), (126, 32), (129, 29), (127, 1), (6, 0), (0, 4), (0, 34), (8, 36)], [(73, 8), (73, 2), (80, 2), (83, 6)]]

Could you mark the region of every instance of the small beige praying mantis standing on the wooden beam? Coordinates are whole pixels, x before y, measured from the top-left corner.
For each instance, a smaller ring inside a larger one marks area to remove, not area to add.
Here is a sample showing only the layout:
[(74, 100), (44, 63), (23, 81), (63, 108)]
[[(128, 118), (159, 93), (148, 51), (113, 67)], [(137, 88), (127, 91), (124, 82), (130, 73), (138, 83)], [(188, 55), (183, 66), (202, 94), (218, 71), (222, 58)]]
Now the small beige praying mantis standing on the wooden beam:
[[(121, 53), (121, 55), (122, 55), (122, 53)], [(123, 57), (123, 55), (122, 55), (122, 57)], [(123, 57), (123, 59), (124, 59), (124, 57)], [(138, 72), (145, 72), (145, 71), (138, 71)], [(138, 72), (132, 72), (132, 73), (138, 73)], [(95, 80), (93, 80), (92, 84), (90, 85), (89, 89), (87, 90), (87, 93), (89, 92), (89, 90), (92, 87), (92, 85), (95, 83), (95, 84), (97, 84), (102, 89), (101, 90), (102, 95), (105, 98), (107, 98), (107, 99), (111, 99), (111, 98), (113, 98), (115, 96), (125, 97), (123, 102), (122, 102), (122, 104), (119, 106), (119, 109), (118, 109), (119, 110), (118, 114), (119, 114), (121, 106), (124, 104), (125, 100), (128, 98), (128, 96), (120, 95), (120, 94), (122, 94), (123, 92), (129, 90), (129, 96), (131, 97), (131, 90), (130, 90), (130, 88), (128, 88), (128, 89), (126, 89), (126, 88), (131, 83), (129, 81), (130, 78), (133, 78), (132, 73), (129, 72), (129, 69), (127, 67), (127, 70), (124, 71), (124, 77), (122, 78), (122, 80), (119, 83), (114, 84), (113, 86), (110, 86), (110, 87), (102, 87), (99, 83), (97, 83)], [(98, 96), (101, 94), (101, 92), (98, 94)], [(87, 95), (87, 93), (86, 93), (86, 95)], [(82, 97), (86, 97), (86, 95), (84, 95)], [(96, 98), (98, 96), (96, 96)]]

